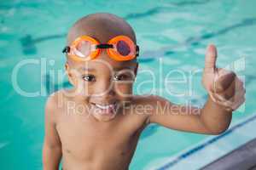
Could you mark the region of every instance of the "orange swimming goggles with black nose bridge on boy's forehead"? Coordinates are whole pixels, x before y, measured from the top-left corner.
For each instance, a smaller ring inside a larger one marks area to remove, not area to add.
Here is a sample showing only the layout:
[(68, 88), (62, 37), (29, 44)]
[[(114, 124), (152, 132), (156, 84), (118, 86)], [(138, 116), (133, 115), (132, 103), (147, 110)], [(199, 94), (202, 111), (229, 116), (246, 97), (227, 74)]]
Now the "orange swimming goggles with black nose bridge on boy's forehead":
[(96, 59), (101, 50), (106, 48), (108, 56), (116, 61), (126, 61), (139, 55), (139, 46), (132, 42), (130, 37), (113, 37), (108, 43), (100, 43), (95, 38), (81, 36), (76, 38), (71, 46), (67, 46), (62, 53), (68, 54), (77, 61)]

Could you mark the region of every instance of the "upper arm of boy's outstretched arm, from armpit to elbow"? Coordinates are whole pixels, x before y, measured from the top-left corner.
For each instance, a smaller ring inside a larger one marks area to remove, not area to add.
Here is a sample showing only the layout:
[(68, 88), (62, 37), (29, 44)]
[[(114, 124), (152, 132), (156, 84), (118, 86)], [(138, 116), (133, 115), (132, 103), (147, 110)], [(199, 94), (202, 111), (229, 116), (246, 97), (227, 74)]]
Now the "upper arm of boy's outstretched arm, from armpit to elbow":
[(175, 105), (160, 96), (150, 96), (153, 111), (148, 116), (148, 122), (176, 130), (194, 133), (210, 133), (201, 121), (201, 109), (189, 105)]

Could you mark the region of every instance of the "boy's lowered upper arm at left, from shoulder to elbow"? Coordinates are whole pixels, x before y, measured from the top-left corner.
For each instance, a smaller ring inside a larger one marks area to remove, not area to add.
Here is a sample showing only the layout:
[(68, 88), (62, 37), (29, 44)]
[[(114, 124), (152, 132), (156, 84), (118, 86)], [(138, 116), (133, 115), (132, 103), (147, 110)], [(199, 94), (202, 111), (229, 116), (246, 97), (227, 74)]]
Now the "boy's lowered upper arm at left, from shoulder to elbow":
[(61, 147), (61, 139), (56, 130), (57, 108), (55, 95), (49, 96), (45, 105), (44, 116), (44, 145), (50, 148)]

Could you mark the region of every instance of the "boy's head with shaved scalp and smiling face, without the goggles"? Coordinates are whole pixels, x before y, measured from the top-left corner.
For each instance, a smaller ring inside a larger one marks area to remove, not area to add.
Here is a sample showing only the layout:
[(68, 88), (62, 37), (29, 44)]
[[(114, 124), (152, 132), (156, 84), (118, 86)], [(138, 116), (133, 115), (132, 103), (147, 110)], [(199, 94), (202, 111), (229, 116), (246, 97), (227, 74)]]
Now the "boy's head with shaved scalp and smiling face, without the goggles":
[[(67, 45), (84, 35), (101, 43), (124, 35), (136, 44), (131, 26), (113, 14), (92, 14), (77, 21), (67, 35)], [(112, 120), (131, 101), (132, 85), (137, 75), (136, 59), (116, 61), (108, 56), (106, 49), (102, 49), (96, 59), (89, 61), (78, 62), (67, 57), (66, 70), (77, 92), (74, 99), (85, 108), (89, 106), (89, 114), (99, 121)]]

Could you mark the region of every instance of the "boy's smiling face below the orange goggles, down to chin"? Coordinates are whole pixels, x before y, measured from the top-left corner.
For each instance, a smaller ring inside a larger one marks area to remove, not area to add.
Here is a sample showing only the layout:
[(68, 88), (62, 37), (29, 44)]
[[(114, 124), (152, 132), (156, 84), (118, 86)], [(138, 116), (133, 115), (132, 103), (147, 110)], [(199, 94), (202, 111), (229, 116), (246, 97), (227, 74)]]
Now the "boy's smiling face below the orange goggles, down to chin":
[(66, 70), (77, 92), (75, 98), (98, 121), (112, 120), (131, 101), (136, 60), (115, 61), (102, 50), (97, 59), (67, 62)]

